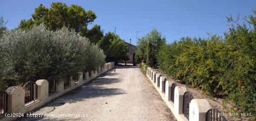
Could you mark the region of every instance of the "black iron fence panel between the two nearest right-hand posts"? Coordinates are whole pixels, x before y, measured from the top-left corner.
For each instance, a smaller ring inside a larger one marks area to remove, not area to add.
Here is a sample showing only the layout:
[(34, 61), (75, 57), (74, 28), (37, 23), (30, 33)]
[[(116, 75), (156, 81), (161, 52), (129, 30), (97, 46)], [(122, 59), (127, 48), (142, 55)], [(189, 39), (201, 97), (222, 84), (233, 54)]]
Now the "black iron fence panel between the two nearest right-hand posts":
[(194, 99), (193, 95), (189, 93), (188, 91), (184, 93), (183, 95), (183, 108), (182, 113), (184, 116), (189, 120), (189, 103), (190, 101)]

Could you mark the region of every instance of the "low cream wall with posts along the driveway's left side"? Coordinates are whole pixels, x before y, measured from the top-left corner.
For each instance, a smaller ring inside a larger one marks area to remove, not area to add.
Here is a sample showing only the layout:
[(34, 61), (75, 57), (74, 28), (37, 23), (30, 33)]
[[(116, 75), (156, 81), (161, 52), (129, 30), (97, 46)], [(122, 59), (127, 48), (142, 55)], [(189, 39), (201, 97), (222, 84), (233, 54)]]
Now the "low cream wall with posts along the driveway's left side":
[[(37, 98), (35, 101), (31, 101), (25, 104), (25, 90), (23, 87), (8, 87), (6, 90), (7, 93), (7, 114), (13, 113), (27, 113), (29, 111), (34, 110), (35, 108), (40, 108), (45, 105), (47, 102), (53, 100), (56, 97), (61, 96), (81, 85), (93, 80), (97, 76), (109, 71), (115, 67), (114, 62), (108, 62), (102, 67), (98, 67), (97, 70), (91, 72), (91, 76), (89, 76), (89, 72), (83, 77), (83, 73), (79, 74), (79, 78), (77, 81), (72, 80), (72, 77), (69, 79), (69, 86), (64, 87), (64, 82), (58, 82), (56, 84), (56, 91), (53, 94), (48, 94), (49, 83), (47, 80), (37, 80), (35, 84), (37, 85)], [(6, 114), (1, 115), (0, 120), (2, 121), (12, 121), (19, 117), (6, 117)]]

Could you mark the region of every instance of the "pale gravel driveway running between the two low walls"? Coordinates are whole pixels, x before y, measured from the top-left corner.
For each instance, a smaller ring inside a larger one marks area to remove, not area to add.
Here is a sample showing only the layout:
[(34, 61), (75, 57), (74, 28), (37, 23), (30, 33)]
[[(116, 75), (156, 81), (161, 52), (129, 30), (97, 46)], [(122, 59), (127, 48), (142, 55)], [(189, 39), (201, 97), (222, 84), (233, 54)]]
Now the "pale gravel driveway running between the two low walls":
[(139, 67), (115, 68), (18, 120), (175, 121)]

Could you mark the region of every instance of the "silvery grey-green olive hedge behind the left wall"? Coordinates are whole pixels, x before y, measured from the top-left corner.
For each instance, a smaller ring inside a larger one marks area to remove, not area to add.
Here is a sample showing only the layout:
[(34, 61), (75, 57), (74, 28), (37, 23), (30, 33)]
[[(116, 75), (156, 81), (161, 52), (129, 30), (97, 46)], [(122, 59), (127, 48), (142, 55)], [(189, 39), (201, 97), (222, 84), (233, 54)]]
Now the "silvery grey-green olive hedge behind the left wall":
[(44, 25), (6, 31), (0, 39), (0, 86), (27, 81), (76, 78), (105, 63), (103, 51), (74, 30), (50, 31)]

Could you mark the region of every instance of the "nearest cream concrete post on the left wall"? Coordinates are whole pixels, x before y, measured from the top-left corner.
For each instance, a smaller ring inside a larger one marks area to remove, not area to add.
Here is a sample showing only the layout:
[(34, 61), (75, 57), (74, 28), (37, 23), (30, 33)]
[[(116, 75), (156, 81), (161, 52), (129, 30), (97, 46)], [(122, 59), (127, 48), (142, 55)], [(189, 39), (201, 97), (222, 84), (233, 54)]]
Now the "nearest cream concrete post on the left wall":
[[(48, 91), (48, 90), (47, 90)], [(22, 113), (25, 111), (25, 90), (20, 87), (8, 87), (7, 113)]]

